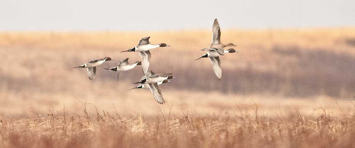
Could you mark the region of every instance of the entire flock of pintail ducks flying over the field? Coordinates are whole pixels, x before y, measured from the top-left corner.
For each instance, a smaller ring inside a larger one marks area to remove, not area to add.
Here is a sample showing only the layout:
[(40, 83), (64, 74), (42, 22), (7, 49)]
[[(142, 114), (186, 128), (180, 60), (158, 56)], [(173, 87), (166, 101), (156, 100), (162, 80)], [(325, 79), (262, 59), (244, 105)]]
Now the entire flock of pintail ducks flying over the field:
[[(224, 50), (223, 48), (226, 46), (235, 46), (232, 43), (229, 44), (222, 44), (220, 42), (220, 27), (217, 21), (217, 18), (214, 20), (213, 27), (212, 27), (212, 44), (209, 45), (207, 48), (202, 49), (203, 51), (208, 51), (206, 54), (201, 56), (198, 59), (201, 59), (203, 57), (209, 57), (213, 64), (213, 72), (217, 76), (217, 78), (220, 80), (222, 77), (222, 68), (221, 68), (221, 62), (219, 59), (219, 55), (224, 55), (225, 53), (235, 53), (238, 52), (234, 50), (233, 48), (230, 48), (228, 50)], [(132, 88), (149, 88), (151, 92), (153, 93), (154, 99), (159, 103), (159, 104), (164, 104), (166, 101), (163, 98), (162, 92), (160, 91), (158, 85), (163, 84), (163, 83), (168, 83), (171, 81), (168, 81), (168, 79), (173, 79), (175, 77), (172, 76), (172, 73), (168, 74), (155, 74), (153, 71), (148, 70), (149, 68), (149, 59), (151, 59), (151, 53), (149, 50), (157, 48), (157, 47), (166, 47), (170, 46), (165, 43), (161, 43), (158, 45), (153, 45), (149, 43), (149, 38), (150, 37), (144, 37), (139, 40), (138, 45), (126, 50), (126, 51), (121, 51), (121, 52), (130, 52), (130, 51), (136, 51), (139, 52), (139, 55), (142, 57), (142, 61), (137, 61), (135, 64), (129, 64), (128, 59), (122, 59), (118, 63), (117, 66), (111, 67), (111, 68), (104, 68), (110, 71), (118, 71), (117, 74), (117, 81), (119, 80), (121, 74), (123, 71), (128, 71), (136, 67), (137, 65), (142, 65), (142, 71), (144, 76), (141, 78), (139, 82), (136, 82), (138, 84), (136, 87)], [(198, 60), (196, 59), (196, 60)], [(105, 57), (103, 59), (93, 59), (90, 60), (89, 62), (73, 67), (73, 68), (87, 68), (88, 76), (90, 80), (93, 80), (95, 78), (96, 74), (96, 67), (103, 64), (105, 61), (111, 61), (110, 57)], [(131, 90), (131, 89), (130, 89)]]

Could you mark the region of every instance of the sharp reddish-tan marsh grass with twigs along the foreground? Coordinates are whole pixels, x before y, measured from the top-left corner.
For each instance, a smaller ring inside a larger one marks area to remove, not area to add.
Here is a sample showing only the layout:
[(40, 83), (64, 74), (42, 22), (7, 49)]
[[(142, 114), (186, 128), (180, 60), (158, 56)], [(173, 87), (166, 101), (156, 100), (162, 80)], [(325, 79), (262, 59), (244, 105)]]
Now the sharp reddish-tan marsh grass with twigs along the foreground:
[[(355, 106), (333, 116), (321, 105), (314, 115), (297, 106), (285, 116), (268, 117), (258, 104), (220, 117), (156, 110), (155, 117), (133, 118), (116, 109), (80, 114), (49, 110), (34, 119), (1, 119), (1, 147), (354, 147)], [(241, 104), (242, 105), (242, 104)], [(248, 112), (247, 108), (251, 110)], [(252, 113), (252, 114), (250, 114)]]

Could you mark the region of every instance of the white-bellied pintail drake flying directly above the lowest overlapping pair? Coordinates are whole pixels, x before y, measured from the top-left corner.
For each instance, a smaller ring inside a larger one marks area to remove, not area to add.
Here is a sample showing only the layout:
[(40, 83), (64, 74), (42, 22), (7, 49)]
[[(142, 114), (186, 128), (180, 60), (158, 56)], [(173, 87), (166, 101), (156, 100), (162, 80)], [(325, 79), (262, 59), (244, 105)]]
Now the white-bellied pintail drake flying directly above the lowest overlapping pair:
[[(147, 73), (148, 68), (149, 68), (149, 59), (151, 59), (151, 53), (149, 50), (157, 48), (157, 47), (165, 47), (165, 46), (170, 46), (166, 45), (165, 43), (160, 43), (159, 45), (153, 45), (149, 43), (149, 38), (150, 37), (144, 37), (139, 40), (138, 45), (126, 50), (126, 51), (138, 51), (139, 55), (142, 57), (142, 70), (144, 75)], [(125, 51), (121, 51), (125, 52)]]

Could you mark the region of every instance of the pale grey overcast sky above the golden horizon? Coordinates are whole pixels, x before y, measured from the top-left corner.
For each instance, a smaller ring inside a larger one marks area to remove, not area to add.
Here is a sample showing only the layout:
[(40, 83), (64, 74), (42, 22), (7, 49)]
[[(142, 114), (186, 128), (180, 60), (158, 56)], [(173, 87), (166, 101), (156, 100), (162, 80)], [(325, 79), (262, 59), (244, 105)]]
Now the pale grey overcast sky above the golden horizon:
[(355, 0), (0, 0), (0, 31), (355, 26)]

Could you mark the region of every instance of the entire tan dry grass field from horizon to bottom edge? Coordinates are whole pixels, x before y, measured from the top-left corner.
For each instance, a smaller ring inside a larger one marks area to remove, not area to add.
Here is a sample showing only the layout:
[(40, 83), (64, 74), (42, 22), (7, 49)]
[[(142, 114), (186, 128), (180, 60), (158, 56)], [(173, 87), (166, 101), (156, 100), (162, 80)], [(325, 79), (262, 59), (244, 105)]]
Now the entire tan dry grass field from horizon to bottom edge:
[[(166, 104), (104, 70), (151, 36)], [(222, 80), (194, 61), (211, 31), (0, 32), (0, 147), (355, 147), (355, 28), (222, 30)], [(226, 48), (228, 49), (228, 48)], [(93, 81), (72, 68), (109, 56)]]

